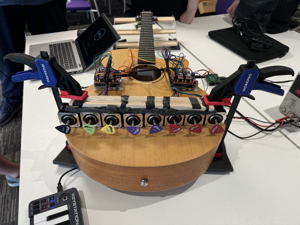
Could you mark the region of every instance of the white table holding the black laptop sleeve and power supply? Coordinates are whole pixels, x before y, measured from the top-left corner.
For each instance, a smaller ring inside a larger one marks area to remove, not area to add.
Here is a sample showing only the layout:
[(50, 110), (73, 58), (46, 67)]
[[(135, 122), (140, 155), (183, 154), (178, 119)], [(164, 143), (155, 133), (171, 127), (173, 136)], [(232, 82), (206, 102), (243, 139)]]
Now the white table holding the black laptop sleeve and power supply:
[[(228, 14), (215, 15), (215, 16), (203, 16), (194, 18), (191, 24), (184, 24), (181, 22), (176, 23), (177, 36), (181, 46), (188, 49), (193, 55), (199, 59), (208, 69), (212, 69), (219, 76), (228, 77), (234, 73), (239, 65), (246, 64), (247, 61), (241, 58), (239, 55), (218, 44), (214, 40), (208, 37), (208, 32), (212, 30), (224, 29), (232, 27), (231, 19)], [(161, 24), (162, 27), (168, 26), (167, 24)], [(283, 58), (275, 58), (269, 61), (258, 63), (259, 68), (281, 65), (292, 68), (295, 71), (295, 75), (300, 71), (300, 33), (295, 31), (287, 31), (280, 34), (266, 34), (271, 38), (276, 39), (289, 46), (289, 52)], [(192, 38), (190, 38), (192, 36)], [(286, 76), (274, 76), (270, 77), (272, 81), (284, 81), (293, 80), (295, 78)], [(292, 82), (279, 84), (282, 89), (288, 91)], [(208, 89), (208, 93), (211, 88)], [(284, 96), (285, 96), (284, 94)], [(284, 115), (279, 112), (278, 108), (284, 99), (284, 96), (273, 95), (263, 91), (252, 91), (251, 95), (256, 97), (255, 101), (247, 98), (242, 98), (252, 105), (259, 113), (269, 122), (274, 122), (275, 119), (279, 119)], [(249, 113), (245, 116), (251, 116)], [(298, 131), (298, 132), (297, 132)], [(280, 129), (280, 132), (285, 137), (290, 139), (300, 149), (299, 129), (290, 127)]]

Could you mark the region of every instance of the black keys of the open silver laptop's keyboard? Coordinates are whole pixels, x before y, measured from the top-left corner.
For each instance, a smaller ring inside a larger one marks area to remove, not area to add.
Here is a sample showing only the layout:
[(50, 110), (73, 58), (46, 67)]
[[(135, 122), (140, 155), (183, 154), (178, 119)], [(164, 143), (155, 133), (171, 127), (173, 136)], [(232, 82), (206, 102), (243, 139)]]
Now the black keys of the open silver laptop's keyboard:
[(77, 63), (70, 41), (49, 44), (49, 49), (50, 55), (53, 55), (58, 64), (65, 70), (77, 68)]

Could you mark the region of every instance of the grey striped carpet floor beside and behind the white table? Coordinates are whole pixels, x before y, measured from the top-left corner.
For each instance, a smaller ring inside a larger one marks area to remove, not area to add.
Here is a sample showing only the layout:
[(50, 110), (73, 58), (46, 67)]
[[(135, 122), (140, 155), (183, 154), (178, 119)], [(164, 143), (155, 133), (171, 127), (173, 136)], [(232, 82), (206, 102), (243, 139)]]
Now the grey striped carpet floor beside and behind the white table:
[[(100, 13), (105, 13), (110, 22), (113, 23), (114, 16), (123, 17), (124, 3), (121, 0), (110, 0), (110, 2), (111, 15), (109, 15), (108, 11), (108, 0), (106, 7), (104, 6), (104, 1), (97, 0)], [(91, 4), (94, 4), (93, 1), (91, 1)], [(96, 14), (95, 16), (97, 18)], [(67, 20), (69, 30), (84, 29), (91, 24), (91, 20), (87, 17), (87, 13), (85, 12), (68, 12)], [(20, 110), (9, 123), (0, 126), (0, 155), (14, 162), (20, 161), (21, 127), (22, 110)], [(0, 206), (0, 225), (18, 224), (19, 187), (9, 187), (3, 175), (0, 175), (0, 202), (3, 203)]]

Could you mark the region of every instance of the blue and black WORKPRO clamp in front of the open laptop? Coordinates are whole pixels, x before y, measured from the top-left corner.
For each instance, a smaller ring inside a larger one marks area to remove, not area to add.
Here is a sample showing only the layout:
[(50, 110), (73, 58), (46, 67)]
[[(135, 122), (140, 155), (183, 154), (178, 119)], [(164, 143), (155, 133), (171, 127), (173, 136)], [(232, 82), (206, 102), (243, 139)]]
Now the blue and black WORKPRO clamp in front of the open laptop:
[(43, 85), (39, 89), (51, 88), (58, 108), (62, 105), (60, 98), (84, 100), (88, 95), (88, 92), (82, 91), (80, 84), (57, 63), (55, 57), (45, 51), (41, 51), (36, 58), (22, 53), (10, 53), (5, 55), (3, 60), (31, 67), (30, 70), (16, 73), (11, 77), (12, 81), (41, 80)]

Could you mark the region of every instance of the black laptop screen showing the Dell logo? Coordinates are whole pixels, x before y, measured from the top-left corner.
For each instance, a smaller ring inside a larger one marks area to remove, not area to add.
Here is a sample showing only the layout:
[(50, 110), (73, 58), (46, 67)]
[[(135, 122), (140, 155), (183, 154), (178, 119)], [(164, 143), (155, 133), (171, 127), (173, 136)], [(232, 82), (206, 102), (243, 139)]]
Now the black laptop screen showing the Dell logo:
[(94, 63), (95, 55), (99, 52), (109, 50), (120, 36), (113, 25), (102, 13), (78, 38), (76, 38), (77, 47), (80, 48), (79, 54), (86, 70)]

